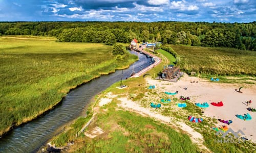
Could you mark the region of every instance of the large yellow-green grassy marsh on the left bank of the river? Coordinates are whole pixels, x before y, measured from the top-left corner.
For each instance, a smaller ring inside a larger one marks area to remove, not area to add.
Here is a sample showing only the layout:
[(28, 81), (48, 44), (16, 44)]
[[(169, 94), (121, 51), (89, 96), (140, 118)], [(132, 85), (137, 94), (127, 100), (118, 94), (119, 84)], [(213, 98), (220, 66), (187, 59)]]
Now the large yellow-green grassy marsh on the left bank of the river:
[(108, 45), (55, 40), (0, 37), (0, 136), (53, 108), (77, 85), (137, 60), (126, 54), (117, 61)]

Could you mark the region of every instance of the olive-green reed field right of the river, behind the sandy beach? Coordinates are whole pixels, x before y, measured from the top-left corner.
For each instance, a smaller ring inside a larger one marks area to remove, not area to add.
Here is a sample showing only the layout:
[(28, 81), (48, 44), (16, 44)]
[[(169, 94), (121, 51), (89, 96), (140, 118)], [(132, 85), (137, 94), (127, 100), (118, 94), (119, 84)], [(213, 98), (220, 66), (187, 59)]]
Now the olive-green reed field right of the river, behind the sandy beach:
[(171, 45), (182, 70), (204, 75), (256, 76), (256, 52), (224, 47)]

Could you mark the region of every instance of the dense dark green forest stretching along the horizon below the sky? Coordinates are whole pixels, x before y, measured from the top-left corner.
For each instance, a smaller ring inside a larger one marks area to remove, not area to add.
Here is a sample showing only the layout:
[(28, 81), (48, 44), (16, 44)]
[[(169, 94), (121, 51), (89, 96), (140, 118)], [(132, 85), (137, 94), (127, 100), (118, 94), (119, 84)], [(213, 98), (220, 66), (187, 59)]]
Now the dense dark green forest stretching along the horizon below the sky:
[(0, 35), (55, 36), (58, 41), (162, 42), (256, 50), (256, 22), (0, 22)]

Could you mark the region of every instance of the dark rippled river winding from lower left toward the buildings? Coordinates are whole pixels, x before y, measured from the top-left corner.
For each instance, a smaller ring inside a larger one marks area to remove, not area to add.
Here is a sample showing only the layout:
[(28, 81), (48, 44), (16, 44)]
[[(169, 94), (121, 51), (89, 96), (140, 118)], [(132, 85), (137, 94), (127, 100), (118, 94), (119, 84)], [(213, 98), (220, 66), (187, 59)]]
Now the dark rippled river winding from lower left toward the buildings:
[[(138, 55), (139, 61), (123, 70), (123, 79), (130, 77), (133, 67), (135, 72), (138, 72), (141, 70), (141, 66), (144, 69), (152, 62), (151, 58), (146, 58), (143, 54), (134, 51), (130, 53)], [(0, 138), (0, 152), (37, 151), (47, 140), (57, 134), (61, 126), (86, 112), (91, 98), (113, 83), (120, 81), (121, 76), (122, 70), (117, 70), (115, 73), (102, 75), (100, 78), (70, 91), (55, 109), (31, 122), (15, 127), (3, 138)]]

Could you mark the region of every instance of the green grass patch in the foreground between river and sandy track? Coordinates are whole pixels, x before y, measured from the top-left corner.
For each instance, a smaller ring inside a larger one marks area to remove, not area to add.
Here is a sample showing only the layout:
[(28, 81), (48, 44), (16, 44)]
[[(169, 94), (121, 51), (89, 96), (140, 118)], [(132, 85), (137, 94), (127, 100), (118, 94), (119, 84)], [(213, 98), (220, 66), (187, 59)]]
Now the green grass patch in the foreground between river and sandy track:
[(76, 152), (199, 152), (186, 134), (150, 117), (121, 110), (98, 115), (97, 124), (106, 134), (83, 139), (83, 146)]

